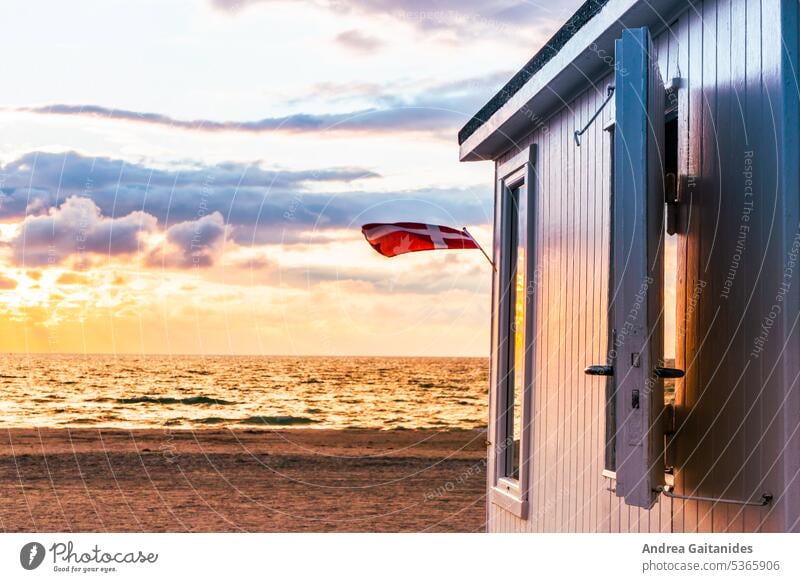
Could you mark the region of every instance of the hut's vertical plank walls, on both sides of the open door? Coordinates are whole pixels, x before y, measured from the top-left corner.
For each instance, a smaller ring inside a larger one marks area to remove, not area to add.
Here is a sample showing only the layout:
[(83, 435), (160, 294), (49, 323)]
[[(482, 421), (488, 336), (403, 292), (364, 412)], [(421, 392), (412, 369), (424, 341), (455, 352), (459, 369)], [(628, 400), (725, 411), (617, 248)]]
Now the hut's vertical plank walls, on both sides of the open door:
[(489, 502), (490, 531), (800, 530), (800, 280), (789, 276), (788, 288), (784, 280), (800, 240), (800, 93), (796, 81), (794, 93), (781, 91), (798, 52), (796, 12), (780, 0), (706, 0), (655, 39), (664, 79), (682, 79), (679, 166), (694, 177), (678, 250), (677, 367), (687, 376), (677, 387), (676, 490), (739, 499), (768, 491), (775, 502), (744, 508), (662, 495), (644, 511), (621, 503), (601, 474), (605, 384), (582, 369), (606, 360), (603, 126), (613, 101), (580, 148), (573, 132), (600, 106), (609, 73), (520, 144), (539, 148), (530, 511), (520, 520)]

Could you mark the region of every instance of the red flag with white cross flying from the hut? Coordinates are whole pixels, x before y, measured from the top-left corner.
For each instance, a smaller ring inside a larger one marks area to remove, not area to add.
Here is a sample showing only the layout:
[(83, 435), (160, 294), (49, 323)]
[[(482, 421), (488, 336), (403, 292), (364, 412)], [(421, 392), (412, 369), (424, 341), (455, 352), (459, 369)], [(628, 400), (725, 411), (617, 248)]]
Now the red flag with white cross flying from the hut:
[(436, 249), (481, 248), (466, 229), (457, 230), (421, 222), (365, 224), (361, 232), (372, 248), (384, 257)]

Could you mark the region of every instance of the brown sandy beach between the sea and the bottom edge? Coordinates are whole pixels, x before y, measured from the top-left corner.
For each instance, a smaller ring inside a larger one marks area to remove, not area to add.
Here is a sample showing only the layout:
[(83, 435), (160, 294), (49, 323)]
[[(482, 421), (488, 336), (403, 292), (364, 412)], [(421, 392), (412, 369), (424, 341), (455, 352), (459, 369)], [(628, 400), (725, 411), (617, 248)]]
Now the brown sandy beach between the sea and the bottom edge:
[(0, 531), (482, 531), (485, 433), (0, 430)]

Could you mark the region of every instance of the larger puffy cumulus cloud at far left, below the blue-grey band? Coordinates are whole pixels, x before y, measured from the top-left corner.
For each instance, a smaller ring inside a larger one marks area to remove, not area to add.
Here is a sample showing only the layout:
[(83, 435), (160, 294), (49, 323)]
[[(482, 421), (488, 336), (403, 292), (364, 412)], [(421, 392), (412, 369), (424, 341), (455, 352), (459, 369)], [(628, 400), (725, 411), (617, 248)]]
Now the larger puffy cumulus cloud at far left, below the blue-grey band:
[(55, 265), (76, 255), (130, 255), (139, 250), (140, 235), (156, 225), (155, 217), (139, 211), (104, 217), (91, 199), (72, 196), (46, 215), (25, 218), (9, 245), (15, 263), (31, 266)]

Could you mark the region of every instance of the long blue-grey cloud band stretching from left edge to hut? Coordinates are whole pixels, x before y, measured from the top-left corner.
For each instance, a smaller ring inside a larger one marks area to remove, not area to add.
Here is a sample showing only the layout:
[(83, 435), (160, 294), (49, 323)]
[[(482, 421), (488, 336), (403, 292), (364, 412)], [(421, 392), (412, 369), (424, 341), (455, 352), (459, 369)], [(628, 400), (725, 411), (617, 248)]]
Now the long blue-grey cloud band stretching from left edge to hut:
[[(309, 230), (357, 228), (365, 222), (388, 220), (483, 224), (492, 215), (491, 193), (485, 187), (336, 193), (305, 189), (310, 183), (320, 187), (326, 179), (374, 175), (357, 168), (296, 171), (284, 176), (246, 164), (165, 170), (75, 152), (32, 152), (0, 171), (5, 178), (0, 188), (0, 219), (24, 218), (30, 228), (38, 225), (35, 219), (39, 217), (60, 225), (60, 212), (54, 208), (71, 196), (90, 200), (92, 212), (96, 209), (102, 216), (146, 214), (161, 228), (216, 212), (240, 244), (296, 242)], [(66, 205), (67, 209), (73, 204)], [(42, 228), (46, 231), (52, 226), (45, 222)], [(49, 244), (50, 235), (37, 232), (37, 237), (42, 236)], [(75, 247), (69, 236), (55, 242)], [(28, 251), (32, 252), (30, 243)]]

